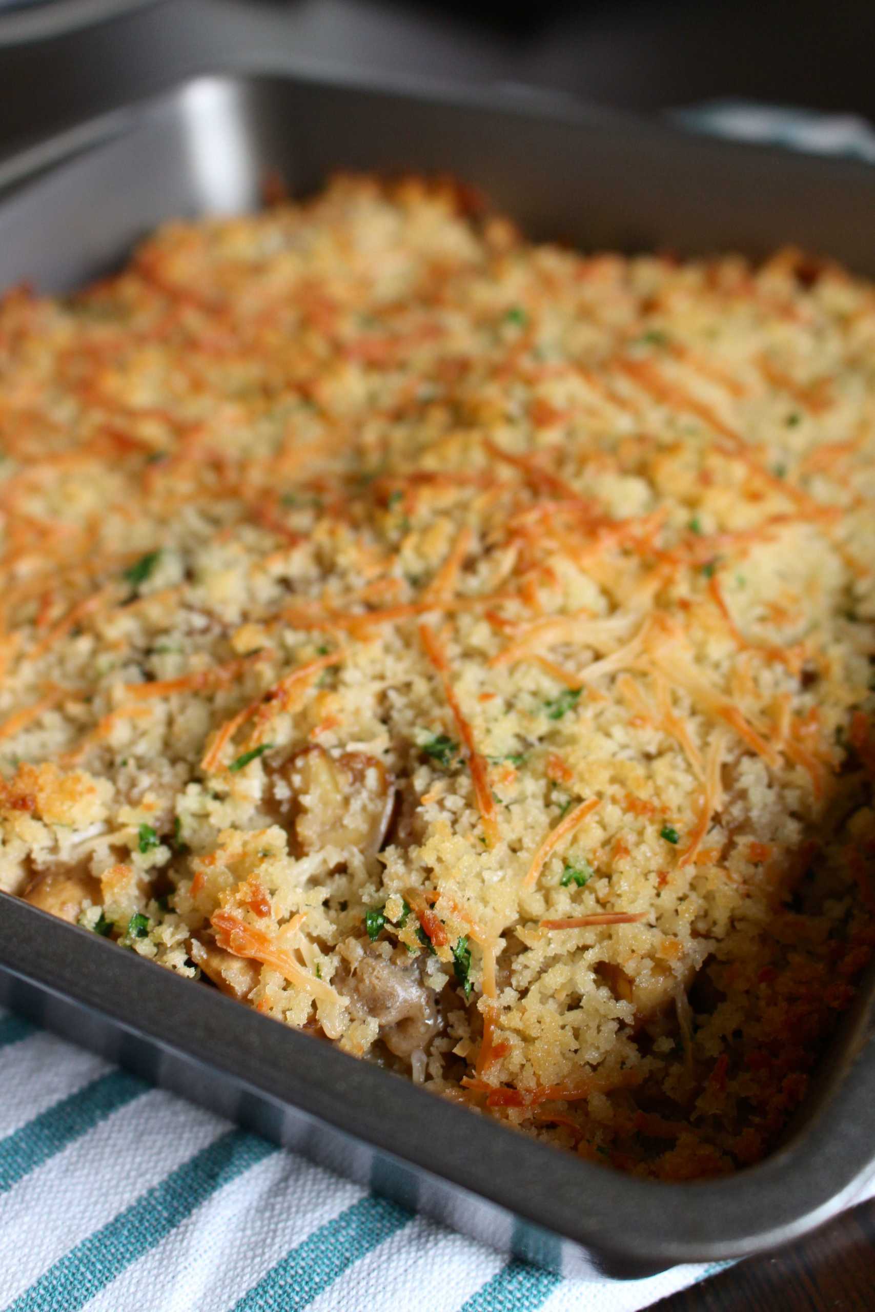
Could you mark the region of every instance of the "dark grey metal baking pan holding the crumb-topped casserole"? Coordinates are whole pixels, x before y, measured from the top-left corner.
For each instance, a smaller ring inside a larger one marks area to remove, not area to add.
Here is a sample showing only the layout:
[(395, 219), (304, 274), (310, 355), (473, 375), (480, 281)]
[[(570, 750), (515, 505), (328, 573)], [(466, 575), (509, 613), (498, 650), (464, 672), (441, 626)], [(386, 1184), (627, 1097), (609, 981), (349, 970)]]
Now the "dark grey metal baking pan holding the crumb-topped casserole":
[[(336, 169), (453, 172), (537, 237), (792, 241), (875, 273), (875, 169), (686, 136), (575, 105), (289, 72), (198, 79), (0, 165), (0, 286), (64, 290), (171, 215)], [(875, 980), (765, 1162), (668, 1185), (518, 1135), (0, 895), (0, 1001), (450, 1225), (565, 1274), (740, 1257), (820, 1224), (875, 1173)]]

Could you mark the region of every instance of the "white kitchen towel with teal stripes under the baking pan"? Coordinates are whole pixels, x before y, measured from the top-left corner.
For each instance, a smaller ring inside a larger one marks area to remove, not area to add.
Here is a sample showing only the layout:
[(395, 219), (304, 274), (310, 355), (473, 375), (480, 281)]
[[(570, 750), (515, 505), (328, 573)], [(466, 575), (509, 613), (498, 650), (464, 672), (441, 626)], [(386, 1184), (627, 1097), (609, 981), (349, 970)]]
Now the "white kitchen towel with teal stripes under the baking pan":
[[(875, 160), (865, 123), (715, 104), (697, 130)], [(0, 1308), (636, 1312), (718, 1267), (569, 1281), (413, 1216), (0, 1012)]]

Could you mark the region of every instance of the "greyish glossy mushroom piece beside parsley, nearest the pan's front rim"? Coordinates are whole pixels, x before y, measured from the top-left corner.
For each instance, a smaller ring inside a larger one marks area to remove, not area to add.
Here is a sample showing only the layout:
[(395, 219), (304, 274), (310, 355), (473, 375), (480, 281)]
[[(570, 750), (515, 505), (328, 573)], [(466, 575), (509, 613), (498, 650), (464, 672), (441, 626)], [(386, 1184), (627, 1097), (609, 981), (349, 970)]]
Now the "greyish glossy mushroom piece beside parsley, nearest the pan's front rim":
[(348, 985), (353, 1008), (371, 1015), (380, 1039), (396, 1057), (411, 1060), (439, 1029), (434, 991), (422, 984), (418, 966), (394, 966), (380, 956), (363, 956)]

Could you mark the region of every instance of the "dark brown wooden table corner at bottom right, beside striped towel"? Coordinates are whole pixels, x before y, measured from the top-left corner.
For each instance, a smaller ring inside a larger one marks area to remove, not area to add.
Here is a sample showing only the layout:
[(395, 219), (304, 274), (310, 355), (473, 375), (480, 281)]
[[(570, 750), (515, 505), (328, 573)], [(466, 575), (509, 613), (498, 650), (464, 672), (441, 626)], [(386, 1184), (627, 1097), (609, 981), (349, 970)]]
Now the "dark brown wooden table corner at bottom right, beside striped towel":
[(662, 1299), (653, 1312), (875, 1312), (875, 1200)]

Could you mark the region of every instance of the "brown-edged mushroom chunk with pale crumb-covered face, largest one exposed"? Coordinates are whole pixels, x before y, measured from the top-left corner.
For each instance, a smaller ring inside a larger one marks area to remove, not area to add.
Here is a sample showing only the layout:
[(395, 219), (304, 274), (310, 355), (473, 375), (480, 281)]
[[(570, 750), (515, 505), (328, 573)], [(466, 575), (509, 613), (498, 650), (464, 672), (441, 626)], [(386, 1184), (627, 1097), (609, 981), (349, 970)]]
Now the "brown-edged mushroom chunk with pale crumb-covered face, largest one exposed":
[(285, 778), (298, 803), (295, 834), (304, 851), (333, 845), (379, 851), (395, 803), (386, 766), (363, 752), (335, 758), (324, 748), (293, 757)]

